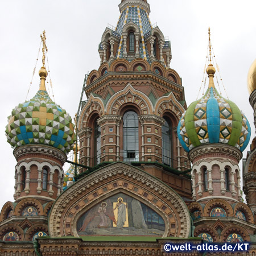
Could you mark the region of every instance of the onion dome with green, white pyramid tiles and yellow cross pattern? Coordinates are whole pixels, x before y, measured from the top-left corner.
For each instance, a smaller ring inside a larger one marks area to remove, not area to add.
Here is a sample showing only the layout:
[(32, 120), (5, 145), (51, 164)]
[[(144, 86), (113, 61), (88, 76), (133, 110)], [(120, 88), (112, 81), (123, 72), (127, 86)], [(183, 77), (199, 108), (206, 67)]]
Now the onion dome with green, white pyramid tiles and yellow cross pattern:
[(40, 89), (30, 101), (16, 106), (8, 117), (7, 142), (16, 148), (26, 144), (46, 144), (66, 154), (75, 142), (71, 116), (51, 100), (44, 81), (45, 68), (39, 71)]

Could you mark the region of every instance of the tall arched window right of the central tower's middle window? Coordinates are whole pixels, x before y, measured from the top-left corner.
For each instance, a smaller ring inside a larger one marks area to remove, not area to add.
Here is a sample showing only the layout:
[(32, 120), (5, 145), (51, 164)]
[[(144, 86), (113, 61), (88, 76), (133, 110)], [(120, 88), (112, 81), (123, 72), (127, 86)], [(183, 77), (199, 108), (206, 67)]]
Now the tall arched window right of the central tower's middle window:
[(172, 126), (170, 121), (164, 118), (164, 124), (162, 126), (162, 155), (163, 164), (171, 166), (172, 157)]

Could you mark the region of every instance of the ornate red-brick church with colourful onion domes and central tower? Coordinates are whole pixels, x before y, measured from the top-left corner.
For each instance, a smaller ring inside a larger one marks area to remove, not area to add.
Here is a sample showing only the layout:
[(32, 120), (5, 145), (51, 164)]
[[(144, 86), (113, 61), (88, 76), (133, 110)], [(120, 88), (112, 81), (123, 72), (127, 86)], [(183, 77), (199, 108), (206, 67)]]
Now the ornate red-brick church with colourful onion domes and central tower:
[[(251, 128), (217, 92), (211, 51), (208, 90), (187, 107), (171, 44), (152, 26), (147, 0), (122, 0), (119, 10), (117, 27), (102, 35), (76, 127), (46, 91), (41, 36), (39, 91), (6, 126), (17, 164), (15, 201), (0, 214), (1, 254), (166, 255), (170, 242), (250, 242), (246, 254), (168, 254), (255, 255), (255, 139), (241, 171)], [(256, 63), (248, 81), (254, 110), (255, 73)]]

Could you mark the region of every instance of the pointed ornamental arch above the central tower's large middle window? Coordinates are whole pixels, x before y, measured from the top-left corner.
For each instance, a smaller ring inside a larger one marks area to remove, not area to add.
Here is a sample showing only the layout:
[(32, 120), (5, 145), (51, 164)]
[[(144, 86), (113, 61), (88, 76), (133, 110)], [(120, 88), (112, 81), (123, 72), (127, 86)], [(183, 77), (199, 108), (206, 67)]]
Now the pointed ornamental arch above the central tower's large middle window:
[(125, 88), (115, 93), (109, 99), (106, 104), (106, 114), (119, 114), (125, 104), (137, 106), (141, 114), (153, 113), (154, 107), (146, 94), (135, 90), (133, 86), (127, 84)]

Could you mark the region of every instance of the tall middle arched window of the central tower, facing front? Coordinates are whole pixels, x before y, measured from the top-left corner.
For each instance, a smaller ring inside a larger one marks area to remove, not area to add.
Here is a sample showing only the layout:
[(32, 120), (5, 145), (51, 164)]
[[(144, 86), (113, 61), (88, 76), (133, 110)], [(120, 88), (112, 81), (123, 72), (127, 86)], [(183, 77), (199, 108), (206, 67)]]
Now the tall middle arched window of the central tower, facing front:
[(128, 111), (123, 115), (123, 161), (139, 160), (138, 114)]

